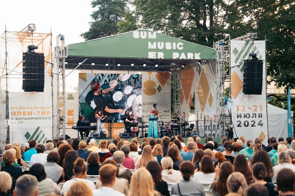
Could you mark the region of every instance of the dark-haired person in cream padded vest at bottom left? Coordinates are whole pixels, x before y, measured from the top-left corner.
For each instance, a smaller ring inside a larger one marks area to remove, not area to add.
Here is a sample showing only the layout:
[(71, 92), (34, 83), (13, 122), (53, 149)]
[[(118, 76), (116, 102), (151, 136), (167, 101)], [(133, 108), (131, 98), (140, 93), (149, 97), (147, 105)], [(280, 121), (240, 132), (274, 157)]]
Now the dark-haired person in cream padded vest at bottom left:
[(46, 179), (44, 166), (40, 163), (35, 163), (29, 170), (29, 174), (36, 176), (38, 180), (38, 195), (45, 195), (47, 193), (59, 193), (61, 188), (57, 186), (52, 179)]

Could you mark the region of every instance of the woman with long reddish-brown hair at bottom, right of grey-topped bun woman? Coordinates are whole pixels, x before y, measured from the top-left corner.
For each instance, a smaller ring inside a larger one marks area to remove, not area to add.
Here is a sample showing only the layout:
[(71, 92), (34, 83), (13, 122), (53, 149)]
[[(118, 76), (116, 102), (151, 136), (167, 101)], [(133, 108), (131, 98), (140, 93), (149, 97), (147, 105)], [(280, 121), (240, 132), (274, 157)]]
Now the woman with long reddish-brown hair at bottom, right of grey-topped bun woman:
[(229, 161), (216, 165), (216, 180), (209, 186), (209, 192), (218, 196), (225, 196), (228, 194), (226, 180), (231, 173), (233, 173), (233, 166)]

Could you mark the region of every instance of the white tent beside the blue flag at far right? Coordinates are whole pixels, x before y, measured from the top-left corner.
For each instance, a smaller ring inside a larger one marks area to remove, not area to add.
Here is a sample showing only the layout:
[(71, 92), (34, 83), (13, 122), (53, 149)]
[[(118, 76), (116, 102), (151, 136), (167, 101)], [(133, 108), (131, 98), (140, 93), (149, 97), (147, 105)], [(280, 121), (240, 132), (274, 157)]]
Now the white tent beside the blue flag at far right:
[[(287, 110), (267, 104), (267, 119), (270, 138), (288, 137)], [(293, 122), (293, 111), (291, 111), (291, 120)]]

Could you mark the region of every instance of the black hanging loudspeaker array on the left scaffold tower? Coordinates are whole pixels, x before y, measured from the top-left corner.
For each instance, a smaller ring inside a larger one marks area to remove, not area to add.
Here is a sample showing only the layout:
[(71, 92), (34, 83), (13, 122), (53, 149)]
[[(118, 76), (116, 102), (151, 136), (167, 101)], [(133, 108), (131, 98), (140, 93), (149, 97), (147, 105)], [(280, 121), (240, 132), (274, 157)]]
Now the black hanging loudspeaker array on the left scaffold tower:
[(24, 52), (22, 89), (25, 92), (44, 92), (44, 54)]

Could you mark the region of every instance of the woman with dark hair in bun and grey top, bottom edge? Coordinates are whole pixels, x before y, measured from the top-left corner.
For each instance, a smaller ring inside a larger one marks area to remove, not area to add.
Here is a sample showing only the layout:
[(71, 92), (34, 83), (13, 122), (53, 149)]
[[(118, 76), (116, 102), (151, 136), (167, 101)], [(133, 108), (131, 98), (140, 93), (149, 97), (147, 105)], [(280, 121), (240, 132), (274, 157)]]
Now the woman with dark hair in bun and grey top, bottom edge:
[(194, 164), (191, 161), (183, 161), (179, 165), (179, 170), (183, 181), (172, 186), (171, 195), (205, 196), (203, 185), (191, 180), (191, 175), (195, 171)]

